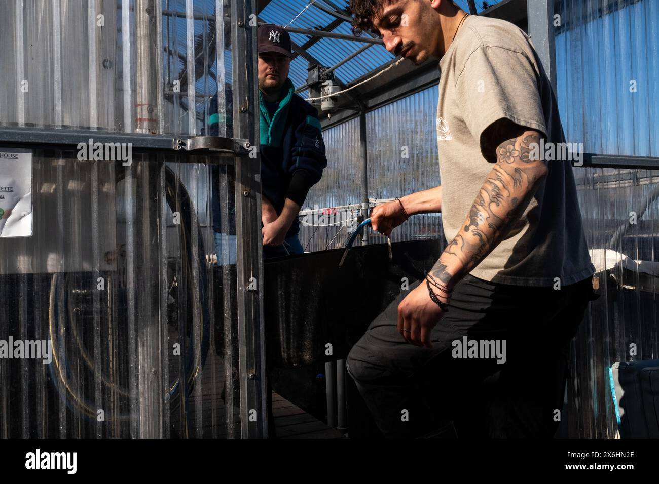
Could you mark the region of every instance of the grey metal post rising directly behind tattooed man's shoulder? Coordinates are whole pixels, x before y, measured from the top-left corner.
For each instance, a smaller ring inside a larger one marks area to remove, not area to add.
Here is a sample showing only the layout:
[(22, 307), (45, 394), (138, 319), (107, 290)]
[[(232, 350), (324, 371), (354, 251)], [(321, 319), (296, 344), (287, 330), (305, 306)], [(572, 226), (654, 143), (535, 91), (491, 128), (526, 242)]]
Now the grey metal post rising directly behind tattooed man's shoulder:
[(554, 35), (554, 2), (527, 0), (529, 36), (540, 57), (544, 72), (556, 93), (556, 38)]

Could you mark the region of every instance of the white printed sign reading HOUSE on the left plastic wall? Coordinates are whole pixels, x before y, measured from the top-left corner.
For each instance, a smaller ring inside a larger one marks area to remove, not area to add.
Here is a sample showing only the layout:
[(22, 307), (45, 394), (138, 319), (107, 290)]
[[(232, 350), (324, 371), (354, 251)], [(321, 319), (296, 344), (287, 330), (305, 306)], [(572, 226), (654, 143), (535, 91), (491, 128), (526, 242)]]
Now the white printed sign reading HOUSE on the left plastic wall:
[(32, 236), (32, 151), (0, 148), (0, 238)]

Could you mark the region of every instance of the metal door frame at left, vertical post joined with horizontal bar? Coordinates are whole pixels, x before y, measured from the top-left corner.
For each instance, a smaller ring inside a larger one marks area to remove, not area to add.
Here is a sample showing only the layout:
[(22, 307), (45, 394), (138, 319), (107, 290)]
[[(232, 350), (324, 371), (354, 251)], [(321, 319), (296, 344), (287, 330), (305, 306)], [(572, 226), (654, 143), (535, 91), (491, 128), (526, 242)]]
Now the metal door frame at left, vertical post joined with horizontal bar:
[[(215, 14), (221, 21), (222, 3), (218, 2), (216, 5), (219, 5), (220, 11)], [(236, 173), (240, 437), (264, 438), (268, 437), (268, 412), (262, 300), (263, 251), (260, 228), (257, 49), (256, 26), (250, 26), (253, 23), (250, 22), (251, 18), (256, 18), (256, 0), (231, 0), (235, 138), (0, 126), (0, 147), (77, 151), (79, 143), (86, 144), (89, 138), (93, 138), (94, 142), (130, 143), (136, 154), (190, 151), (191, 155), (215, 157), (217, 163), (226, 163), (227, 159), (233, 159)], [(140, 437), (161, 437), (158, 435), (157, 426), (153, 428), (149, 421), (145, 423), (150, 430), (148, 435), (140, 432)]]

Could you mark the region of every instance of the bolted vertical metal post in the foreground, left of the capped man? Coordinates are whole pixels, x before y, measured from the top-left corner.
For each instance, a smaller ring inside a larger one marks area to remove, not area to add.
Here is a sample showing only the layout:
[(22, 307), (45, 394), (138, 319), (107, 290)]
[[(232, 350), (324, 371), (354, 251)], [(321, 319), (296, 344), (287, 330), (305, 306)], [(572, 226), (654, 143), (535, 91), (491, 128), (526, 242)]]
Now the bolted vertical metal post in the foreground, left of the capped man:
[[(258, 146), (255, 0), (231, 0), (233, 136)], [(244, 68), (242, 68), (244, 66)], [(236, 159), (237, 313), (241, 434), (267, 437), (266, 362), (263, 322), (263, 249), (261, 246), (261, 165), (255, 157)]]

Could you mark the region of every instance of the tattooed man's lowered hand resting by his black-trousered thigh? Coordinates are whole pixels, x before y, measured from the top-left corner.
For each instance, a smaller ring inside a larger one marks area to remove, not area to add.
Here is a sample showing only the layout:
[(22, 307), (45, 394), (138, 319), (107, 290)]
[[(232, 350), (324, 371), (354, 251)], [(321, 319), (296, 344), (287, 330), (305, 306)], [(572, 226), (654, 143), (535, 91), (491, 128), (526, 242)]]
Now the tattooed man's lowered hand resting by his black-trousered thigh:
[[(445, 293), (434, 288), (433, 292), (442, 302), (447, 302)], [(444, 311), (432, 302), (428, 294), (428, 286), (424, 279), (398, 305), (398, 332), (403, 338), (415, 346), (432, 348), (430, 332), (444, 316)]]

